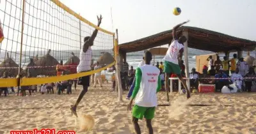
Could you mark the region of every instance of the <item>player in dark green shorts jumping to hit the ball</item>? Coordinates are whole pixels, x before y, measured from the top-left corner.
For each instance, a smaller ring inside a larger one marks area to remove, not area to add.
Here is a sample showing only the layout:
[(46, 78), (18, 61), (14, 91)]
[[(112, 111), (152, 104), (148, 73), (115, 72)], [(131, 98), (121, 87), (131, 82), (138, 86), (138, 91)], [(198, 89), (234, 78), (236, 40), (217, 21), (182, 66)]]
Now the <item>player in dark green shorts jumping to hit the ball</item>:
[(164, 56), (164, 73), (165, 73), (165, 89), (167, 94), (167, 101), (169, 101), (169, 95), (168, 95), (168, 80), (170, 77), (170, 73), (174, 73), (177, 75), (179, 80), (182, 82), (183, 86), (185, 87), (187, 91), (187, 98), (190, 98), (190, 93), (188, 91), (188, 86), (186, 84), (186, 81), (182, 78), (180, 66), (181, 66), (181, 60), (182, 60), (182, 54), (184, 51), (183, 43), (187, 41), (187, 38), (185, 36), (180, 36), (180, 38), (177, 37), (177, 29), (182, 26), (183, 24), (188, 23), (183, 22), (181, 24), (178, 24), (177, 26), (173, 27), (172, 29), (172, 36), (173, 41), (168, 48), (166, 55)]

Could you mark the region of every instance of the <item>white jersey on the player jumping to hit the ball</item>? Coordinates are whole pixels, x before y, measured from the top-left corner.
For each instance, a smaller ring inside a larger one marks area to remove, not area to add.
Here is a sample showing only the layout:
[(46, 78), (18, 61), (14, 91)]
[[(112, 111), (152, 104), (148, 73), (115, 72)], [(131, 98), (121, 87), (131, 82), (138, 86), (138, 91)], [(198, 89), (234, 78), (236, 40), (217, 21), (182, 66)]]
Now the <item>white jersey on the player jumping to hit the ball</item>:
[(171, 43), (170, 47), (168, 48), (163, 60), (169, 61), (174, 64), (179, 64), (178, 55), (179, 55), (180, 49), (182, 48), (184, 48), (184, 46), (180, 44), (178, 40), (174, 40)]

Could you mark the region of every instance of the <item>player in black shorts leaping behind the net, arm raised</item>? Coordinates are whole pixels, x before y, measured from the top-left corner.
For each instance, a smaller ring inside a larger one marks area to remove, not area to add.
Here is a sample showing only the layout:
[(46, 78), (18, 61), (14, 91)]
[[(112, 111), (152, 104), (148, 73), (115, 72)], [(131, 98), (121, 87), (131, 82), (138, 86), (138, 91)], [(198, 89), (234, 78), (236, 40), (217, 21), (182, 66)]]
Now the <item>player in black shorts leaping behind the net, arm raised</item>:
[[(102, 16), (101, 15), (100, 15), (100, 17), (97, 16), (97, 19), (98, 19), (97, 26), (99, 27), (101, 24)], [(80, 63), (77, 66), (77, 73), (92, 70), (92, 68), (91, 68), (92, 48), (91, 47), (93, 46), (93, 41), (96, 38), (97, 33), (98, 33), (98, 29), (95, 29), (92, 33), (92, 36), (84, 37), (84, 45), (80, 51), (80, 55), (79, 55)], [(77, 112), (76, 112), (77, 105), (82, 100), (84, 94), (88, 91), (88, 87), (90, 86), (90, 75), (78, 78), (77, 84), (83, 86), (83, 90), (79, 94), (75, 105), (70, 106), (70, 110), (71, 110), (72, 114), (76, 115), (76, 117), (78, 117)]]

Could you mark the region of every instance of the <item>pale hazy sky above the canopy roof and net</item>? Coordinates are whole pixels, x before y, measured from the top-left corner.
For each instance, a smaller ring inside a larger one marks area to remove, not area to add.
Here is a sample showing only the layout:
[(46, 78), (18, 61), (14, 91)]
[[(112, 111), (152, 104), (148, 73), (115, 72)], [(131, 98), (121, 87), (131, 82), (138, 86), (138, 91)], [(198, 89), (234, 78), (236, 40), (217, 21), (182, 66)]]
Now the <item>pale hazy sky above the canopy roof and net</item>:
[[(255, 0), (60, 1), (94, 24), (97, 23), (96, 15), (101, 14), (103, 20), (100, 27), (108, 31), (118, 29), (120, 43), (172, 29), (186, 20), (190, 20), (186, 26), (256, 41)], [(179, 16), (172, 14), (175, 7), (182, 10)]]

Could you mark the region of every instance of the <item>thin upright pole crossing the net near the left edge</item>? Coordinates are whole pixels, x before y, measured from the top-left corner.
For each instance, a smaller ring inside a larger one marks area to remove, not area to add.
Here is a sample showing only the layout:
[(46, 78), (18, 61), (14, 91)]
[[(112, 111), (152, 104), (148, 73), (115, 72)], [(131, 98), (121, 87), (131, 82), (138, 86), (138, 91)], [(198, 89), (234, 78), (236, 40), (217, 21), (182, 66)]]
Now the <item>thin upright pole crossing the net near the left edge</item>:
[[(23, 0), (22, 4), (22, 24), (21, 24), (21, 39), (20, 39), (20, 60), (19, 60), (19, 73), (18, 73), (18, 87), (20, 86), (20, 80), (21, 80), (21, 61), (22, 61), (22, 44), (23, 44), (23, 31), (24, 31), (24, 13), (25, 13), (25, 2), (26, 0)], [(22, 94), (23, 96), (24, 94)]]

